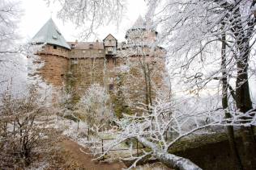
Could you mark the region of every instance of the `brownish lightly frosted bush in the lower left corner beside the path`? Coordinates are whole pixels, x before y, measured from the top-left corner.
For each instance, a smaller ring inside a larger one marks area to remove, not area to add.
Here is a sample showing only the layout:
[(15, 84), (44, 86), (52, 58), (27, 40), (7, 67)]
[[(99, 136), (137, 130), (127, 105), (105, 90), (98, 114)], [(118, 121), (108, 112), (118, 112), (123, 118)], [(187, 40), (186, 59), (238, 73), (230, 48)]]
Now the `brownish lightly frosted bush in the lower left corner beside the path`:
[[(29, 85), (28, 92), (15, 97), (8, 89), (0, 101), (0, 167), (23, 168), (31, 164), (35, 151), (50, 149), (48, 139), (58, 139), (49, 129), (52, 105), (48, 96), (40, 93), (38, 85)], [(52, 114), (54, 114), (52, 112)]]

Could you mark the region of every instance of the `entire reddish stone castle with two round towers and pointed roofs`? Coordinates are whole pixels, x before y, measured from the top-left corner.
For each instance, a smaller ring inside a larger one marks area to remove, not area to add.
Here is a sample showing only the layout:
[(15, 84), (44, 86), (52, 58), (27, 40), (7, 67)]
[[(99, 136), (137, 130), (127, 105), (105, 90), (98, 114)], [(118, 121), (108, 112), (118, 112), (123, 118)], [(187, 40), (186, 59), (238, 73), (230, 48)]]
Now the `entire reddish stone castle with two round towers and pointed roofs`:
[(32, 38), (43, 44), (37, 52), (44, 66), (41, 76), (53, 86), (73, 89), (73, 100), (93, 84), (105, 86), (117, 112), (138, 102), (152, 105), (164, 85), (164, 48), (157, 46), (158, 32), (139, 16), (126, 31), (126, 42), (109, 34), (102, 42), (66, 42), (53, 19)]

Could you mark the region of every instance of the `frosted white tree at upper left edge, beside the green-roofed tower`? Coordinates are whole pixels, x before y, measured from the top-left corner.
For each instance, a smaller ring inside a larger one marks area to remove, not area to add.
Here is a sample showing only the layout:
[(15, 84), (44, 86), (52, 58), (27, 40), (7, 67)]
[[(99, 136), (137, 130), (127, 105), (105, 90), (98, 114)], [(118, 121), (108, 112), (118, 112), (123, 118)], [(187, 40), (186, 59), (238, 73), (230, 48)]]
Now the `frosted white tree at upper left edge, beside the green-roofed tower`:
[(3, 88), (6, 88), (6, 84), (16, 83), (11, 78), (17, 78), (15, 73), (18, 69), (23, 69), (19, 67), (23, 62), (22, 57), (19, 56), (20, 49), (16, 46), (16, 41), (19, 39), (18, 24), (21, 14), (18, 1), (0, 2), (0, 93), (5, 90)]

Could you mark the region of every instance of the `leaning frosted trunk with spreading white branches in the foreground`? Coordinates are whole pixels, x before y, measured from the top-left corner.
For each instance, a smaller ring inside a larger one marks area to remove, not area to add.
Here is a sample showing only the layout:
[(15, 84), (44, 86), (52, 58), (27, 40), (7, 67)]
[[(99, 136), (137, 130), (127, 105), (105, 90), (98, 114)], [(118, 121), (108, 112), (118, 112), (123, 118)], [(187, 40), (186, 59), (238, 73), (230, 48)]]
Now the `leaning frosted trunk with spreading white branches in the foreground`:
[[(94, 153), (101, 156), (107, 154), (113, 148), (117, 147), (125, 141), (138, 139), (143, 146), (150, 151), (144, 151), (140, 148), (140, 155), (131, 154), (125, 160), (134, 160), (134, 166), (139, 160), (146, 155), (160, 160), (170, 168), (179, 169), (200, 169), (190, 160), (181, 158), (177, 155), (169, 153), (170, 147), (173, 147), (177, 141), (184, 137), (193, 135), (197, 131), (204, 131), (207, 127), (214, 126), (251, 126), (255, 125), (255, 110), (248, 113), (241, 113), (238, 110), (230, 112), (230, 118), (224, 118), (224, 110), (201, 110), (194, 108), (191, 110), (185, 103), (189, 100), (180, 100), (175, 102), (157, 102), (156, 106), (151, 106), (151, 112), (143, 112), (143, 114), (124, 115), (122, 120), (116, 120), (117, 130), (109, 130), (106, 133), (114, 136), (110, 143), (105, 143), (105, 152), (101, 153), (100, 143), (93, 145)], [(183, 108), (182, 108), (183, 107)], [(187, 110), (191, 110), (188, 112)], [(201, 110), (201, 111), (200, 111)], [(206, 121), (207, 120), (207, 121)], [(172, 134), (172, 138), (166, 138), (165, 134)], [(131, 143), (130, 148), (134, 148)], [(133, 149), (130, 150), (133, 153)]]

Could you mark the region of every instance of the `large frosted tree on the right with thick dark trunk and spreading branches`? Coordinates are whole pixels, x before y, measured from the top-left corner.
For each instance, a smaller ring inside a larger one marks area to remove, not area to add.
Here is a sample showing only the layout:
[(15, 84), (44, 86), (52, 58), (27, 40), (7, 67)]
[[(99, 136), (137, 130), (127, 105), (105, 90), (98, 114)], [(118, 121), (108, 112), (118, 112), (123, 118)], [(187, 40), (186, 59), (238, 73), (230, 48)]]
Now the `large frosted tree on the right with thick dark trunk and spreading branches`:
[[(179, 87), (182, 84), (183, 91), (202, 95), (209, 89), (218, 93), (219, 82), (215, 80), (220, 80), (222, 95), (229, 101), (223, 106), (226, 113), (252, 111), (250, 88), (254, 87), (249, 87), (249, 81), (254, 74), (250, 64), (255, 51), (255, 1), (147, 2), (148, 15), (162, 27), (173, 81)], [(242, 129), (248, 168), (254, 162), (254, 136), (250, 127)]]

